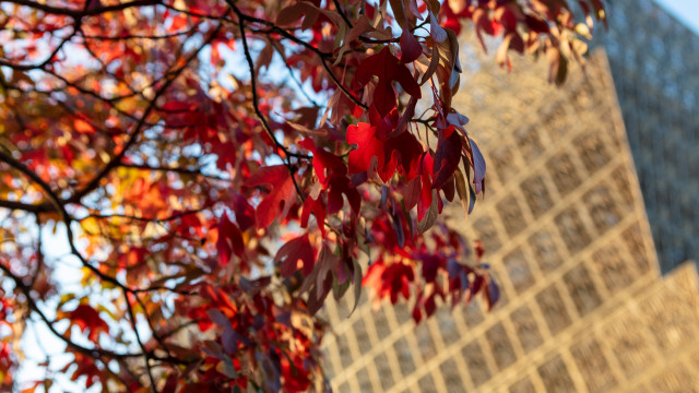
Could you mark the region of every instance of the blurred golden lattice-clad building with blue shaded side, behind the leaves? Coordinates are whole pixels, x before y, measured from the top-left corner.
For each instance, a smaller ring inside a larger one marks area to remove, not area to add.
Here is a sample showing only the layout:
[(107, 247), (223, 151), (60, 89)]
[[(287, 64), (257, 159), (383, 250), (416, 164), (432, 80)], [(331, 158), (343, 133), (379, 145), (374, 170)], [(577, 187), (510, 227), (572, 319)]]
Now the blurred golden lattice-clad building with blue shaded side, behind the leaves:
[(562, 88), (543, 60), (507, 74), (462, 48), (457, 105), (488, 163), (464, 233), (502, 299), (417, 326), (405, 305), (329, 307), (335, 391), (699, 390), (699, 38), (649, 0), (607, 7)]

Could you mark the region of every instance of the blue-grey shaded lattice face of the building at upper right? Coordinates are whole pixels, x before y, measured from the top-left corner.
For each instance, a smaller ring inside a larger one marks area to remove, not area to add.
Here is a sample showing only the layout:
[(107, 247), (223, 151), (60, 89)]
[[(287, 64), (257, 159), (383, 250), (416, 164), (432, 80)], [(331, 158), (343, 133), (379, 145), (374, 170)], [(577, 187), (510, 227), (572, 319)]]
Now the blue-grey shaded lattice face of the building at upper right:
[(699, 255), (699, 37), (650, 0), (608, 2), (604, 45), (661, 270)]

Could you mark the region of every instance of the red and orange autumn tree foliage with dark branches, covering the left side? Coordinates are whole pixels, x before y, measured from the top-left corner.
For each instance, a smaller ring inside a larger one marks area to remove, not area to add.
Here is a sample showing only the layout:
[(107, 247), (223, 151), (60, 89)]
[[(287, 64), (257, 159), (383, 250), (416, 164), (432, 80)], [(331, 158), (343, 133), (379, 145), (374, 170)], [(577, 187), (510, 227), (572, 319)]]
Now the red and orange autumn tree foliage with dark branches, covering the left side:
[(587, 23), (564, 0), (2, 0), (3, 385), (27, 323), (71, 354), (27, 391), (305, 391), (331, 293), (414, 299), (416, 321), (491, 306), (483, 250), (436, 225), (486, 184), (458, 35), (560, 82), (604, 17), (578, 3)]

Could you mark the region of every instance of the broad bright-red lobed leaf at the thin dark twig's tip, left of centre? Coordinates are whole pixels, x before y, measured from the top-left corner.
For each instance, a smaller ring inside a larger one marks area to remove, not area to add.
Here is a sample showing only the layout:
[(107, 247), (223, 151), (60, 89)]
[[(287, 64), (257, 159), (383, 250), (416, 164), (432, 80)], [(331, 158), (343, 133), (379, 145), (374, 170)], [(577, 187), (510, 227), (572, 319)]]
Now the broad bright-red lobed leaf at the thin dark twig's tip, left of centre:
[(275, 218), (283, 221), (296, 201), (294, 179), (284, 165), (260, 168), (245, 183), (247, 187), (272, 184), (271, 192), (256, 211), (258, 229), (269, 227)]

